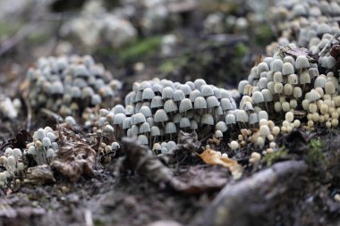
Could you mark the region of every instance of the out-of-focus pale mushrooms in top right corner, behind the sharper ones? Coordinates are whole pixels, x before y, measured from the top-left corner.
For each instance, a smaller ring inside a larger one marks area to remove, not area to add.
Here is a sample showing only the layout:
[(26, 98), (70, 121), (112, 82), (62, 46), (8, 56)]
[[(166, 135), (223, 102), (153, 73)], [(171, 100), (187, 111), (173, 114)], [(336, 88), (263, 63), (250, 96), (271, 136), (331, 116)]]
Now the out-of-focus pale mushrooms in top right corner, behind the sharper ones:
[(313, 54), (327, 45), (329, 38), (340, 33), (334, 17), (340, 15), (338, 1), (278, 1), (269, 11), (270, 21), (280, 38), (269, 45), (267, 54), (274, 54), (276, 45), (308, 47)]

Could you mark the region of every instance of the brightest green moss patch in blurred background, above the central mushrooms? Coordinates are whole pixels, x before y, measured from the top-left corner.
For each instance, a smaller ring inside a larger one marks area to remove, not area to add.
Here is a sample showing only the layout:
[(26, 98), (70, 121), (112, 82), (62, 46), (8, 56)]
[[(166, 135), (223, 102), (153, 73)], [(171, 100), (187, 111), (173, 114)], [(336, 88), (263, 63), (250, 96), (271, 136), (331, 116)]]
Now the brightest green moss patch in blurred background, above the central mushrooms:
[(120, 50), (119, 56), (123, 60), (136, 60), (145, 55), (154, 54), (162, 41), (161, 36), (138, 39)]

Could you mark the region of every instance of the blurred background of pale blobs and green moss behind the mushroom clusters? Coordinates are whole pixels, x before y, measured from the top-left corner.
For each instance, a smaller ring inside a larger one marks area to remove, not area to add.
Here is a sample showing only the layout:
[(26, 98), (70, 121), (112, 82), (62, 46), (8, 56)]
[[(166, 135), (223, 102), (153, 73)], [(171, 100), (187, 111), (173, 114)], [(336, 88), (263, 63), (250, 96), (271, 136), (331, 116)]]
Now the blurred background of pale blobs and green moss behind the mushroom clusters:
[(266, 44), (269, 0), (1, 0), (0, 88), (13, 96), (40, 56), (90, 54), (135, 80), (203, 78), (233, 88)]

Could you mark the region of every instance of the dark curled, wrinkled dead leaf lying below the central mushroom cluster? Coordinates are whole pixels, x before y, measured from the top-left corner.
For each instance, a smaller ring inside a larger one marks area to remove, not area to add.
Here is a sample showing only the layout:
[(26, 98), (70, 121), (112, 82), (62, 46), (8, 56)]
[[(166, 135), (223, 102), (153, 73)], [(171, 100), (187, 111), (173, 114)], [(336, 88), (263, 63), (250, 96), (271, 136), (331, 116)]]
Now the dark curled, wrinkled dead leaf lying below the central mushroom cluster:
[(137, 172), (158, 185), (166, 185), (185, 194), (200, 194), (219, 190), (228, 181), (224, 169), (211, 171), (202, 167), (189, 168), (187, 172), (174, 176), (174, 173), (154, 156), (148, 146), (140, 145), (136, 138), (122, 138), (124, 156), (115, 169), (116, 176), (124, 172)]

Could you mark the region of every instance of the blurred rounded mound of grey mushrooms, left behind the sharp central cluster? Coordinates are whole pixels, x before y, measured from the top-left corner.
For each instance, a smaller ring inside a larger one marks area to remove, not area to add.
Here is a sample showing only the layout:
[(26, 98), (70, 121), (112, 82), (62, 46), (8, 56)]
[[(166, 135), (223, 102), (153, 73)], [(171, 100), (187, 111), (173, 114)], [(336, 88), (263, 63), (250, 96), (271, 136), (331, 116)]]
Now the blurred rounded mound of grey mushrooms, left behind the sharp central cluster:
[(30, 105), (79, 116), (88, 106), (112, 107), (119, 80), (89, 55), (41, 57), (27, 72)]

